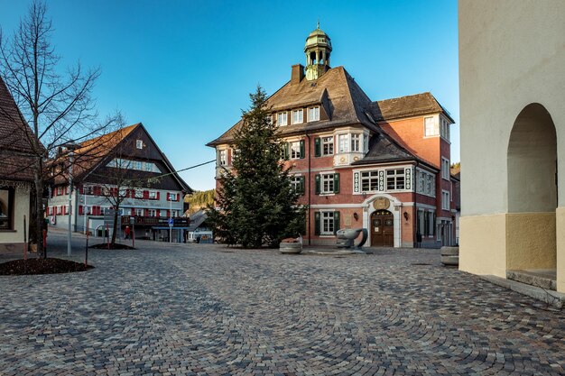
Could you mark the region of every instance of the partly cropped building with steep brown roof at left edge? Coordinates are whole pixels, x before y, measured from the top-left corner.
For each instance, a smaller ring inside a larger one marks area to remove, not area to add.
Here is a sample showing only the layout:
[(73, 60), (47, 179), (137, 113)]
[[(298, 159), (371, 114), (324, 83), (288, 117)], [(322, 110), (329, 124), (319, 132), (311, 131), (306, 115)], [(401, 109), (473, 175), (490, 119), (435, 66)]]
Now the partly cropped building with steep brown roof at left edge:
[(31, 140), (37, 139), (0, 78), (0, 253), (23, 253), (29, 242), (31, 167), (40, 154)]

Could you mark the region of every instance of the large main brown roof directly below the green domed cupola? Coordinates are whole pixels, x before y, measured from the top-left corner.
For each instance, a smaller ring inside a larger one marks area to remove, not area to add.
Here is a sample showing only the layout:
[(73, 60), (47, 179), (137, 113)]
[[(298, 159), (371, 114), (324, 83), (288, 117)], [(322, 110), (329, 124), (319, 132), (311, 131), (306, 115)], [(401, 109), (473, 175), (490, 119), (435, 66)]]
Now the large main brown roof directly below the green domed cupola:
[[(363, 124), (375, 132), (378, 131), (377, 125), (366, 115), (371, 100), (343, 67), (329, 69), (315, 80), (303, 78), (298, 84), (289, 81), (270, 96), (266, 103), (273, 112), (315, 104), (324, 107), (329, 120), (285, 125), (279, 128), (280, 134), (285, 136), (354, 124)], [(240, 120), (216, 140), (208, 142), (207, 146), (214, 147), (233, 141), (234, 134), (241, 125)]]

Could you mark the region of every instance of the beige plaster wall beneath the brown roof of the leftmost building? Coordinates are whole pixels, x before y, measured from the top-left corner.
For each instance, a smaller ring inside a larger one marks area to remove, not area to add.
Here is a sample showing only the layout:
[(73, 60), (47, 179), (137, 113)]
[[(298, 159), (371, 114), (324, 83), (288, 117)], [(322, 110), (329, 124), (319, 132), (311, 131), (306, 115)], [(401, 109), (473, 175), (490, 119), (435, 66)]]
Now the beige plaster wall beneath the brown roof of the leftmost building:
[[(14, 230), (0, 231), (0, 253), (23, 253), (23, 216), (29, 229), (30, 188), (19, 186), (14, 192)], [(29, 234), (28, 234), (29, 236)]]

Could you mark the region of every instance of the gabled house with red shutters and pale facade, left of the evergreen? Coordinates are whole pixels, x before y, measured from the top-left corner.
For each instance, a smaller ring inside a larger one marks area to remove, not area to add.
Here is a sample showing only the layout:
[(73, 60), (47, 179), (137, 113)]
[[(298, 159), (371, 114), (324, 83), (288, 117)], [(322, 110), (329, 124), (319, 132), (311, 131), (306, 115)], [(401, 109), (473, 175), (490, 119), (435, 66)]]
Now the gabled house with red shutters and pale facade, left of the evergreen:
[[(57, 174), (68, 171), (72, 161), (72, 178)], [(104, 236), (108, 213), (119, 199), (121, 223), (135, 228), (135, 236), (169, 241), (183, 241), (189, 219), (182, 218), (184, 196), (192, 193), (143, 124), (134, 124), (94, 140), (82, 142), (79, 148), (56, 160), (53, 185), (46, 209), (51, 226), (86, 231)], [(76, 210), (72, 210), (75, 207)], [(111, 231), (111, 226), (110, 226)]]

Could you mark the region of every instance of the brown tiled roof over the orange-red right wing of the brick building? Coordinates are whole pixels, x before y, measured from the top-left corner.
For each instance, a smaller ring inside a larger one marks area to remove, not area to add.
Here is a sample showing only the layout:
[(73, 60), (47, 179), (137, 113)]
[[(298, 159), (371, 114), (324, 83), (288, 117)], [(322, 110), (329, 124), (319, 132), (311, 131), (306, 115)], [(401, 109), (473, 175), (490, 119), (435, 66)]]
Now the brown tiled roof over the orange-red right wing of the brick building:
[(373, 115), (377, 121), (392, 120), (400, 117), (443, 113), (453, 123), (455, 121), (449, 112), (443, 108), (430, 92), (414, 94), (412, 96), (400, 96), (398, 98), (384, 99), (371, 104)]

